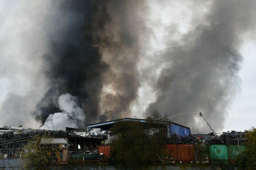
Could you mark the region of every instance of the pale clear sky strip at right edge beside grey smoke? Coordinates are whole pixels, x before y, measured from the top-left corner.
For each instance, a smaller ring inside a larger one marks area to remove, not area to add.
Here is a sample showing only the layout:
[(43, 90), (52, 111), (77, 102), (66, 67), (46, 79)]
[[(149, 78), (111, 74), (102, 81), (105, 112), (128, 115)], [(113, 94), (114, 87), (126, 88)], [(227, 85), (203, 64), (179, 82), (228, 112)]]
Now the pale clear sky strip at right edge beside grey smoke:
[(228, 119), (225, 120), (225, 126), (223, 128), (225, 131), (227, 129), (243, 131), (256, 126), (256, 105), (253, 102), (256, 98), (255, 47), (256, 41), (252, 40), (244, 43), (241, 49), (241, 53), (244, 56), (244, 61), (239, 72), (241, 90), (236, 94), (235, 100), (230, 107), (230, 114)]

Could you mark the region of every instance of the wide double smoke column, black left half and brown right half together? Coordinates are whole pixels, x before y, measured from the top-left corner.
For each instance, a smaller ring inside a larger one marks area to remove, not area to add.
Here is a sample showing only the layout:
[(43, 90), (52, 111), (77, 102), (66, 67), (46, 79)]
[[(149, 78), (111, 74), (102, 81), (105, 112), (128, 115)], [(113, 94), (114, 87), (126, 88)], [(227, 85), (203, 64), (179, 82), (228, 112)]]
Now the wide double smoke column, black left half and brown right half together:
[(46, 16), (50, 50), (43, 56), (50, 88), (37, 104), (36, 120), (44, 123), (62, 112), (56, 101), (66, 93), (84, 109), (86, 120), (70, 117), (80, 128), (129, 116), (139, 87), (137, 25), (143, 26), (138, 10), (143, 3), (67, 0), (53, 5), (59, 13)]

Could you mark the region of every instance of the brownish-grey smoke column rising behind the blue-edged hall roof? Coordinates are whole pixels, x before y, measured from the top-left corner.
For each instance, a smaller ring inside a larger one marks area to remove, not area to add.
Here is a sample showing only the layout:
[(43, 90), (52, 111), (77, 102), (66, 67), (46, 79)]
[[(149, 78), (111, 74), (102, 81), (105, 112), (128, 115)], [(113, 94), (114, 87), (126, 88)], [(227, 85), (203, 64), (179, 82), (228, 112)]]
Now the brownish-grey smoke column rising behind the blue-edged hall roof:
[(111, 20), (97, 32), (103, 61), (110, 65), (104, 73), (101, 121), (130, 116), (130, 107), (138, 96), (138, 61), (141, 43), (146, 37), (144, 1), (110, 1)]

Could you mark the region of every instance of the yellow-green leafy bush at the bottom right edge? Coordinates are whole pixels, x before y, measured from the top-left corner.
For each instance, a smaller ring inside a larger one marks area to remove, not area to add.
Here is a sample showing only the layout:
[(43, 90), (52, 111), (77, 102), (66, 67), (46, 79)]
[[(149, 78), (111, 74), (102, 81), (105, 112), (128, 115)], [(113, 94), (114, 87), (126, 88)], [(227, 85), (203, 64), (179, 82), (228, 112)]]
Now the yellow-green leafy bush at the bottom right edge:
[(239, 169), (256, 169), (256, 128), (252, 127), (245, 133), (247, 138), (247, 148), (236, 157)]

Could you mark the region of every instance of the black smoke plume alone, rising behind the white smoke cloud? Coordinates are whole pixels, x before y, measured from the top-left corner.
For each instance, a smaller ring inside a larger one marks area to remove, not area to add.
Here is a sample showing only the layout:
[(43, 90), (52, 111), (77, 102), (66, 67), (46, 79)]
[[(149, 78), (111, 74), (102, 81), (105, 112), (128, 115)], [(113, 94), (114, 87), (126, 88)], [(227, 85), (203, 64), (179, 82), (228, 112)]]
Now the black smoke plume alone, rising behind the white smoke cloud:
[(47, 16), (47, 25), (58, 29), (47, 30), (50, 50), (43, 56), (50, 88), (37, 105), (36, 119), (44, 123), (49, 114), (61, 112), (54, 100), (69, 93), (79, 98), (87, 122), (92, 123), (99, 114), (102, 73), (108, 68), (92, 37), (93, 30), (102, 29), (105, 24), (104, 20), (92, 24), (98, 1), (62, 1), (54, 5), (60, 12)]

